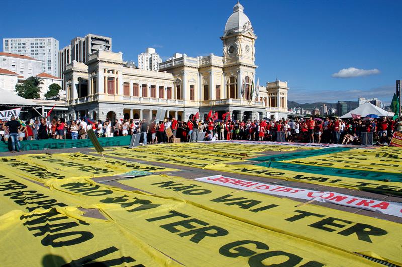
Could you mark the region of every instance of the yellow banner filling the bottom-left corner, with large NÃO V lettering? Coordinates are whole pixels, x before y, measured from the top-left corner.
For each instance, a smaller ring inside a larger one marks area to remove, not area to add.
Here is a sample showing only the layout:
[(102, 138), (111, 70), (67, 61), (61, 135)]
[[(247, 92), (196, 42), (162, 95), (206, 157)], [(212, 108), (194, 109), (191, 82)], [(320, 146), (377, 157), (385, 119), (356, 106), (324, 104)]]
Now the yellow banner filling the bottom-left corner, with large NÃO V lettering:
[(0, 216), (2, 266), (180, 266), (113, 221), (54, 208)]

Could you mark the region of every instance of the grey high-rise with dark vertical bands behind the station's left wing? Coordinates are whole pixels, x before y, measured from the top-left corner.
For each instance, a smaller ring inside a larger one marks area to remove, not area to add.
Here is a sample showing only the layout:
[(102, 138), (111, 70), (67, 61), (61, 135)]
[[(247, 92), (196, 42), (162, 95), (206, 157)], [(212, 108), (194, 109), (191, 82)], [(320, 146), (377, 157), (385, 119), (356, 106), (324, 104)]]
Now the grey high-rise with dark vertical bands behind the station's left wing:
[[(89, 60), (89, 55), (98, 51), (112, 51), (112, 38), (87, 34), (85, 37), (75, 37), (71, 44), (59, 51), (59, 78), (64, 78), (63, 72), (66, 66), (73, 61), (84, 63)], [(64, 83), (63, 83), (64, 88)]]

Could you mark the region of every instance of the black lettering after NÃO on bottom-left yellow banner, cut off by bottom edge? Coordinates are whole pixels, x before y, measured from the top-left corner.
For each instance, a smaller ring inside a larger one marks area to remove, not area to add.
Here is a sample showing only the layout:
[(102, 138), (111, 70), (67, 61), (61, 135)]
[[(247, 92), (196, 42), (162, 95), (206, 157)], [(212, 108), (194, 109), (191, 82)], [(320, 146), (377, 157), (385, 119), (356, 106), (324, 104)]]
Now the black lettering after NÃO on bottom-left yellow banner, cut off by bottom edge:
[[(106, 260), (106, 261), (94, 261), (96, 259), (99, 259), (101, 257), (104, 257), (106, 255), (112, 254), (116, 251), (119, 251), (119, 249), (117, 249), (114, 246), (111, 246), (109, 248), (97, 251), (93, 254), (87, 255), (85, 257), (82, 257), (80, 259), (76, 259), (71, 261), (70, 263), (64, 264), (62, 265), (62, 267), (78, 267), (78, 266), (83, 266), (83, 265), (94, 265), (97, 264), (98, 266), (117, 266), (117, 265), (121, 265), (123, 263), (130, 263), (130, 262), (134, 262), (136, 261), (134, 258), (132, 257), (120, 257), (120, 258), (116, 258), (116, 259), (111, 259), (111, 260)], [(93, 263), (90, 263), (94, 261)], [(135, 266), (143, 266), (142, 264), (138, 264)]]

